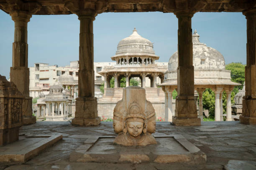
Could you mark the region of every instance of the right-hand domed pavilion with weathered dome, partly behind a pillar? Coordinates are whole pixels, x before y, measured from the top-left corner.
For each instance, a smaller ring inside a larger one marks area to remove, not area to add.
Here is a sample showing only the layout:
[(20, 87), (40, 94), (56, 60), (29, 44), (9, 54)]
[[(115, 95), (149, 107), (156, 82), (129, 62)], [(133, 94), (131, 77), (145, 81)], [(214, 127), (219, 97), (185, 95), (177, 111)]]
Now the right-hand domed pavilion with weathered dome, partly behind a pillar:
[[(195, 90), (199, 94), (199, 117), (203, 118), (202, 93), (206, 88), (215, 92), (215, 121), (223, 120), (222, 94), (227, 94), (227, 119), (231, 119), (231, 91), (234, 86), (240, 85), (231, 81), (230, 70), (225, 70), (225, 60), (223, 55), (212, 47), (207, 47), (201, 43), (200, 35), (195, 30), (192, 35), (193, 42), (193, 66)], [(172, 111), (172, 92), (177, 90), (177, 67), (178, 51), (170, 57), (168, 70), (164, 73), (164, 82), (160, 85), (165, 94), (165, 119), (172, 121), (174, 112)]]

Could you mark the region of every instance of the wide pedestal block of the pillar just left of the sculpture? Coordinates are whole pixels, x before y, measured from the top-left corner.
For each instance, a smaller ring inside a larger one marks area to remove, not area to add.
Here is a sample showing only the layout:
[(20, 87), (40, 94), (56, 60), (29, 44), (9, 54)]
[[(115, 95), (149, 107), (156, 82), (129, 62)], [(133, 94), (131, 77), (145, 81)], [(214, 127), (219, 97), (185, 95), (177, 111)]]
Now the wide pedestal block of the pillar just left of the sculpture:
[(78, 97), (76, 99), (75, 118), (72, 120), (72, 124), (79, 126), (99, 125), (100, 117), (97, 115), (96, 97)]

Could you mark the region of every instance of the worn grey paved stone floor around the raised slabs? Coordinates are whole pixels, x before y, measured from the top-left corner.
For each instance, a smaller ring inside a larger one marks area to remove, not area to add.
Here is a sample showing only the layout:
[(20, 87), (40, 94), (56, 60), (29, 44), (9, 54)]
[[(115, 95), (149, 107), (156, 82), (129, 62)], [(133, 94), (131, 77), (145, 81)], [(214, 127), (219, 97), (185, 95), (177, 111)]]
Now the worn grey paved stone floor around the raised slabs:
[(61, 134), (63, 140), (24, 164), (0, 165), (0, 170), (223, 170), (256, 169), (256, 126), (232, 122), (202, 122), (201, 126), (175, 127), (157, 122), (156, 133), (181, 134), (207, 155), (202, 165), (159, 163), (72, 163), (69, 155), (86, 140), (84, 135), (110, 135), (112, 122), (98, 127), (76, 127), (70, 122), (36, 122), (20, 128), (25, 135)]

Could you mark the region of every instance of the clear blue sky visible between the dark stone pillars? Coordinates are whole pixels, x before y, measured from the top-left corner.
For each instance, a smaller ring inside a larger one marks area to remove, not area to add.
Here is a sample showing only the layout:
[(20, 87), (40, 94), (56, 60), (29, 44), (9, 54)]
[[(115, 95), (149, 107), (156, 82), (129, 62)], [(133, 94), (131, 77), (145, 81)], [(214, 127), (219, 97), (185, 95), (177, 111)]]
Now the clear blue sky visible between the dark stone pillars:
[[(109, 62), (118, 42), (138, 34), (154, 43), (159, 61), (168, 62), (177, 50), (178, 20), (172, 13), (102, 13), (94, 21), (94, 61)], [(246, 64), (246, 19), (242, 13), (196, 13), (192, 30), (200, 41), (220, 51), (226, 64)], [(14, 22), (0, 10), (0, 74), (9, 77)], [(35, 62), (69, 65), (79, 58), (76, 15), (33, 15), (28, 23), (28, 66)]]

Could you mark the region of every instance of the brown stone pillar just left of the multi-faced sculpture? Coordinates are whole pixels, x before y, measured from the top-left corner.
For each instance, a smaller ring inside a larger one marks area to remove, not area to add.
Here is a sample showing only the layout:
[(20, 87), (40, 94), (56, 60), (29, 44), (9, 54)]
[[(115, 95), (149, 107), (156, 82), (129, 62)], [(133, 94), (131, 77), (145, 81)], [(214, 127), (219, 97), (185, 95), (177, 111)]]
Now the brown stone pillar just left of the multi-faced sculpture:
[[(70, 4), (65, 4), (65, 6), (74, 7), (74, 5)], [(72, 10), (77, 9), (73, 8)], [(73, 11), (73, 13), (76, 13), (80, 20), (80, 34), (78, 98), (72, 124), (80, 126), (99, 125), (100, 117), (98, 117), (97, 112), (97, 98), (94, 97), (93, 67), (93, 21), (97, 14), (93, 10), (87, 9), (79, 9), (75, 12)]]

